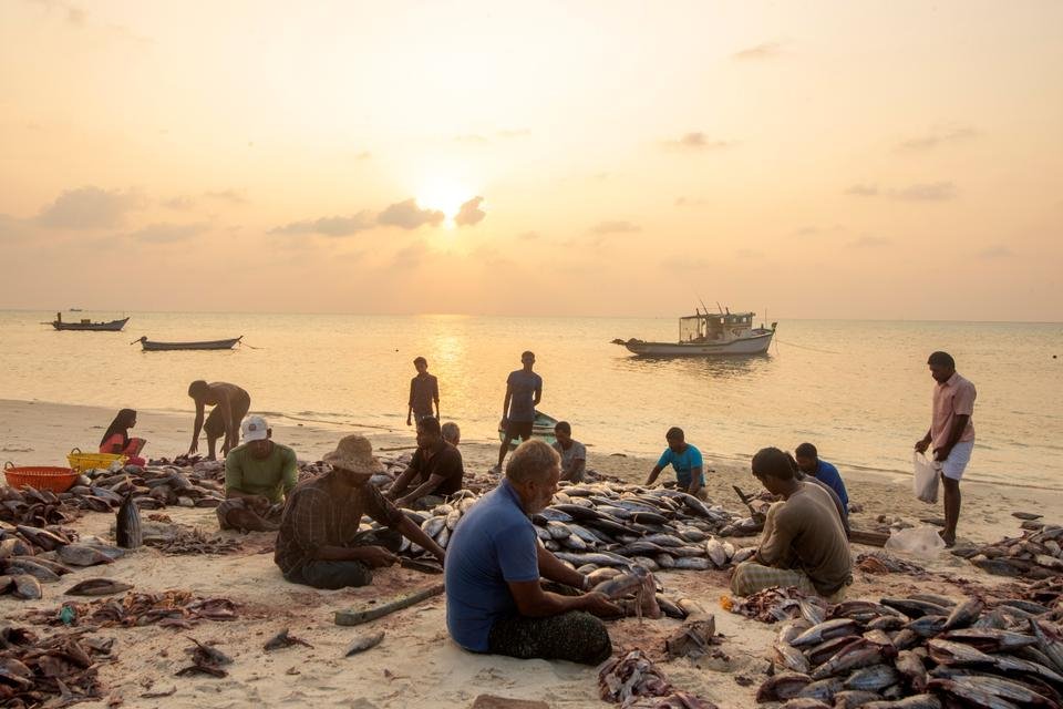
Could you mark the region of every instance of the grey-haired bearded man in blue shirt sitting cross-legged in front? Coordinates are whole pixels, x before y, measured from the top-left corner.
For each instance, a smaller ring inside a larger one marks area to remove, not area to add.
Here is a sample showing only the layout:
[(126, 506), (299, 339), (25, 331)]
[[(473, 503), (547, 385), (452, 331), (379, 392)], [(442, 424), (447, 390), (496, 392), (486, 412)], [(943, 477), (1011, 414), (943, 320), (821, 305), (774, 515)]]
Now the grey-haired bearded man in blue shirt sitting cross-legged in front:
[(587, 577), (539, 543), (529, 515), (557, 491), (560, 459), (543, 441), (522, 443), (505, 479), (473, 505), (451, 536), (446, 559), (446, 626), (474, 653), (597, 665), (612, 653), (596, 616), (620, 608), (600, 593), (561, 596), (540, 578), (586, 590)]

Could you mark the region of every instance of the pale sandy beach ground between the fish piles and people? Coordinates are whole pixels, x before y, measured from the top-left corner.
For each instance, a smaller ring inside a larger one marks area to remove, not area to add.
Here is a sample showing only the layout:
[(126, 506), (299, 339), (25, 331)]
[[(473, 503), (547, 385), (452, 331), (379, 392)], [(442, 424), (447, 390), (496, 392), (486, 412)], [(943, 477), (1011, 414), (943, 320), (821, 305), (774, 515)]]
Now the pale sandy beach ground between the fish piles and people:
[[(0, 459), (25, 465), (64, 464), (72, 446), (94, 450), (102, 428), (113, 411), (92, 407), (42, 402), (0, 401)], [(173, 456), (187, 450), (192, 413), (141, 411), (136, 434), (148, 440), (149, 456)], [(314, 461), (331, 450), (338, 431), (278, 423), (274, 439), (296, 449), (300, 460)], [(409, 431), (365, 429), (374, 448), (396, 454), (413, 446)], [(694, 442), (696, 443), (696, 442)], [(741, 503), (731, 489), (737, 484), (746, 492), (757, 491), (745, 465), (718, 463), (702, 450), (714, 469), (709, 475), (709, 494), (731, 510)], [(200, 444), (203, 450), (203, 444)], [(466, 470), (486, 471), (494, 462), (497, 446), (486, 441), (463, 440)], [(592, 449), (588, 465), (625, 481), (641, 482), (653, 461), (610, 455)], [(880, 515), (920, 524), (921, 518), (939, 517), (940, 506), (915, 500), (910, 479), (879, 473), (842, 471), (854, 503), (863, 511), (853, 515), (856, 527), (875, 528)], [(1063, 495), (1032, 487), (1003, 487), (970, 483), (963, 486), (961, 542), (988, 543), (1019, 531), (1012, 512), (1063, 510)], [(213, 510), (168, 507), (159, 511), (174, 522), (214, 532)], [(1049, 514), (1049, 521), (1052, 520)], [(82, 535), (107, 538), (113, 515), (86, 513), (71, 526)], [(107, 577), (131, 583), (140, 592), (171, 588), (197, 595), (224, 596), (240, 604), (240, 619), (233, 623), (202, 621), (192, 630), (167, 628), (112, 628), (100, 633), (116, 638), (114, 661), (101, 668), (109, 696), (85, 707), (244, 707), (259, 706), (342, 706), (342, 707), (467, 707), (482, 693), (517, 699), (535, 699), (551, 707), (607, 706), (598, 699), (597, 670), (567, 662), (514, 660), (478, 656), (460, 649), (447, 636), (444, 600), (436, 597), (412, 608), (355, 628), (333, 624), (336, 610), (361, 606), (374, 598), (389, 597), (438, 583), (440, 577), (389, 568), (376, 574), (371, 587), (321, 592), (286, 583), (272, 563), (272, 538), (268, 534), (227, 536), (240, 538), (242, 549), (224, 556), (166, 556), (154, 548), (142, 548), (115, 564), (80, 569), (58, 584), (44, 586), (44, 598), (20, 602), (0, 597), (4, 624), (24, 624), (31, 609), (54, 609), (62, 603), (66, 587), (89, 577)], [(739, 541), (755, 544), (755, 537)], [(868, 551), (854, 545), (854, 553)], [(915, 559), (929, 575), (914, 578), (904, 574), (881, 576), (855, 571), (849, 598), (877, 599), (883, 595), (911, 590), (960, 597), (968, 579), (993, 586), (1005, 579), (989, 576), (966, 561), (942, 553), (932, 561)], [(774, 628), (721, 608), (727, 592), (726, 572), (660, 573), (667, 592), (696, 599), (715, 614), (718, 631), (723, 635), (716, 657), (692, 661), (664, 661), (663, 639), (679, 627), (672, 619), (622, 619), (609, 624), (615, 651), (642, 648), (679, 688), (698, 693), (722, 708), (750, 707), (768, 667), (768, 648)], [(266, 653), (262, 644), (288, 628), (313, 647), (296, 646)], [(43, 630), (39, 627), (38, 630)], [(343, 650), (353, 638), (383, 630), (383, 643), (362, 655), (344, 658)], [(188, 637), (216, 643), (235, 662), (221, 679), (174, 677), (184, 667), (183, 649)], [(168, 692), (165, 698), (143, 698), (149, 692)]]

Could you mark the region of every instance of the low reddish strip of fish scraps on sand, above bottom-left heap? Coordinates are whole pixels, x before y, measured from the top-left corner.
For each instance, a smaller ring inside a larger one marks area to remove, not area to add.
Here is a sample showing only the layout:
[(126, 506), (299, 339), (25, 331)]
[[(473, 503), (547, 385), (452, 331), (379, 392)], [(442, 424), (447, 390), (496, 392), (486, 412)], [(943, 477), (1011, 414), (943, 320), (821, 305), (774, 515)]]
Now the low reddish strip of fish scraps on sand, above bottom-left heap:
[(235, 620), (238, 606), (228, 598), (202, 598), (189, 590), (158, 594), (131, 592), (121, 598), (64, 603), (56, 610), (28, 614), (32, 623), (78, 625), (91, 623), (100, 627), (145, 626), (190, 628), (197, 620)]

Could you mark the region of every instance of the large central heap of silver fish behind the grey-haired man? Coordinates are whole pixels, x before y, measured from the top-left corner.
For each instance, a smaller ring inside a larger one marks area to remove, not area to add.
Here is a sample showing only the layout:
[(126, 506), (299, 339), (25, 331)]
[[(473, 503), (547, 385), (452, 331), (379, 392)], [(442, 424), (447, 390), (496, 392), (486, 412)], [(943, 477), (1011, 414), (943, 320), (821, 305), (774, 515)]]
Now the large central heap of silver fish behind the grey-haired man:
[[(463, 490), (429, 512), (403, 512), (445, 548), (477, 500)], [(754, 553), (714, 536), (745, 521), (674, 490), (611, 482), (566, 485), (532, 521), (544, 546), (584, 574), (632, 564), (651, 572), (726, 568)], [(422, 551), (405, 540), (400, 548), (413, 556)]]

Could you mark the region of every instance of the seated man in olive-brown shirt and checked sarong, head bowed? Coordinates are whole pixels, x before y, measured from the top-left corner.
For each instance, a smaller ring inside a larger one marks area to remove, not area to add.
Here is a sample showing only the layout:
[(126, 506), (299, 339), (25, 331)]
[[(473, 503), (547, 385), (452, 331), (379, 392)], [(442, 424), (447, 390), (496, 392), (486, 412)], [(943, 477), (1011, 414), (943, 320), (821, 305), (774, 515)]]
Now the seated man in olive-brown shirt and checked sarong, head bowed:
[(796, 586), (835, 602), (853, 582), (853, 559), (842, 520), (830, 495), (795, 477), (797, 464), (777, 448), (753, 456), (753, 475), (773, 495), (756, 556), (739, 564), (731, 590), (749, 596), (771, 586)]

